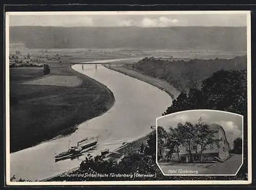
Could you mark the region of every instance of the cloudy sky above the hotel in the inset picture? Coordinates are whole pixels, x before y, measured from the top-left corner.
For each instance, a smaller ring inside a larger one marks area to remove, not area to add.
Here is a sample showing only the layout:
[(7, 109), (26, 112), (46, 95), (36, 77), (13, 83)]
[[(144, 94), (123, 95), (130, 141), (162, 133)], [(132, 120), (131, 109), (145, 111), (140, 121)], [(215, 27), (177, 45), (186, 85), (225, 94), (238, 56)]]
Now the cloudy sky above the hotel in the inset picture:
[(175, 114), (170, 114), (157, 120), (157, 125), (168, 130), (170, 126), (176, 127), (177, 124), (185, 123), (186, 121), (193, 124), (198, 123), (199, 118), (202, 117), (201, 122), (212, 124), (216, 123), (223, 127), (226, 133), (227, 141), (230, 147), (233, 147), (233, 140), (242, 138), (242, 117), (232, 113), (225, 113), (220, 111), (186, 111)]

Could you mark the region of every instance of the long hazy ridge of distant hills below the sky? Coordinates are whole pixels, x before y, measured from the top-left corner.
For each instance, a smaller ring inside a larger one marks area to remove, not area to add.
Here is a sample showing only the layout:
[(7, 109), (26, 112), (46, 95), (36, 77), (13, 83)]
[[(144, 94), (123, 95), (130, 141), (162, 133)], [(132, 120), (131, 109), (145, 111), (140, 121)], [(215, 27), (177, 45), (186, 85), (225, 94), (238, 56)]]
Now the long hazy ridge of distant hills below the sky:
[(246, 51), (246, 27), (170, 28), (11, 26), (10, 43), (28, 48), (141, 48)]

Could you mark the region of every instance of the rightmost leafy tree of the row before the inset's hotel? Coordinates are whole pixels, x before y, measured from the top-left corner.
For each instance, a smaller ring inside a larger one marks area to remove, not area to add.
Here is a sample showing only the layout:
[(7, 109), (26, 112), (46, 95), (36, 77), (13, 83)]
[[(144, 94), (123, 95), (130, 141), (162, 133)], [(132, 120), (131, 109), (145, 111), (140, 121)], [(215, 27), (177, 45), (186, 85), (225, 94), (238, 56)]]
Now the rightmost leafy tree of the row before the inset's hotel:
[(201, 146), (201, 162), (203, 162), (203, 152), (206, 150), (207, 145), (215, 144), (218, 148), (219, 140), (215, 139), (214, 133), (209, 129), (206, 123), (197, 123), (195, 143)]

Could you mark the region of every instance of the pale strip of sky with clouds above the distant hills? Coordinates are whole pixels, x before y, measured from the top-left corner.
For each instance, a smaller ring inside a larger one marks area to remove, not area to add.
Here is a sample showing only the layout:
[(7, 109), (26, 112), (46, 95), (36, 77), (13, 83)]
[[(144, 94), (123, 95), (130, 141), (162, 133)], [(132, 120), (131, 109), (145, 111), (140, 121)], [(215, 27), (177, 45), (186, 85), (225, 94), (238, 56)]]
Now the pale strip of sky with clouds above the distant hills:
[(10, 15), (10, 26), (246, 26), (246, 14)]

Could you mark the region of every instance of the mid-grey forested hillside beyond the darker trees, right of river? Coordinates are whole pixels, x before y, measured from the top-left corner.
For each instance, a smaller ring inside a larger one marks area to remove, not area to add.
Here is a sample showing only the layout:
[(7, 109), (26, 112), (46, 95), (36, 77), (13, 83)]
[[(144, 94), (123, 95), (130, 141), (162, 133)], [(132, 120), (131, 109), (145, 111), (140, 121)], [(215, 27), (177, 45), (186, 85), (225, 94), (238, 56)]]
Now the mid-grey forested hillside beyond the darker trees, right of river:
[(152, 57), (126, 66), (141, 73), (164, 79), (178, 90), (187, 92), (190, 88), (200, 88), (202, 80), (216, 71), (246, 69), (246, 63), (246, 56), (233, 59), (193, 59), (189, 61), (168, 61)]

